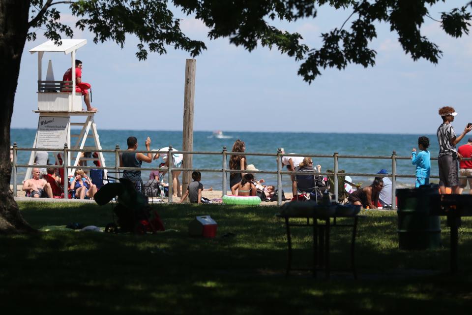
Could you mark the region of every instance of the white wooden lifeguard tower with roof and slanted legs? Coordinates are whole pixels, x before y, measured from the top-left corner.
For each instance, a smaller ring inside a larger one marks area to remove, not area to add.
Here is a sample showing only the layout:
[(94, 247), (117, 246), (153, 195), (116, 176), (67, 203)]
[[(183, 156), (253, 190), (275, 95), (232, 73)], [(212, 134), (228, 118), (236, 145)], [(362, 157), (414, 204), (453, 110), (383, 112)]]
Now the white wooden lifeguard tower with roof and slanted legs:
[[(65, 55), (70, 53), (71, 69), (75, 69), (75, 55), (77, 49), (87, 44), (86, 39), (62, 39), (61, 45), (56, 45), (54, 41), (49, 40), (39, 46), (29, 50), (31, 54), (38, 53), (38, 109), (33, 112), (39, 113), (38, 128), (34, 138), (33, 148), (54, 148), (59, 149), (59, 155), (55, 155), (58, 165), (60, 157), (64, 160), (64, 143), (67, 143), (70, 149), (80, 149), (80, 152), (74, 152), (68, 155), (67, 165), (68, 174), (73, 174), (81, 160), (98, 160), (101, 166), (105, 166), (105, 159), (100, 152), (97, 158), (82, 158), (82, 152), (101, 150), (97, 127), (93, 121), (95, 112), (82, 110), (82, 94), (75, 93), (76, 77), (72, 70), (72, 81), (55, 81), (52, 71), (52, 63), (49, 61), (46, 80), (42, 80), (42, 58), (44, 52), (63, 52)], [(64, 69), (65, 70), (65, 69)], [(72, 92), (74, 91), (74, 92)], [(82, 118), (80, 122), (75, 119)], [(83, 121), (85, 118), (85, 122)], [(74, 122), (72, 122), (74, 120)], [(71, 134), (71, 126), (82, 126), (79, 134)], [(76, 137), (74, 144), (71, 137)], [(93, 138), (94, 146), (86, 147), (88, 137)], [(71, 156), (75, 155), (74, 163), (71, 164)], [(35, 151), (31, 152), (29, 165), (34, 162)], [(104, 170), (104, 178), (107, 176), (107, 170)], [(31, 177), (31, 168), (28, 168), (25, 180)]]

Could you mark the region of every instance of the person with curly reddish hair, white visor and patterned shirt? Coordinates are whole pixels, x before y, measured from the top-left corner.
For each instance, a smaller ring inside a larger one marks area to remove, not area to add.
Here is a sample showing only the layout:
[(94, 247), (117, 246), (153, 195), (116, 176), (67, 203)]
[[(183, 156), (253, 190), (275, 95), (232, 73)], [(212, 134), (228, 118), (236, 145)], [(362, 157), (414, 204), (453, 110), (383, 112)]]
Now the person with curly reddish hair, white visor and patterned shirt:
[(472, 130), (472, 126), (466, 126), (464, 131), (457, 136), (451, 123), (457, 115), (453, 107), (444, 106), (439, 109), (442, 124), (436, 131), (439, 143), (439, 188), (441, 193), (446, 193), (446, 187), (452, 189), (452, 193), (460, 193), (458, 158), (462, 156), (456, 150), (458, 144), (464, 136)]

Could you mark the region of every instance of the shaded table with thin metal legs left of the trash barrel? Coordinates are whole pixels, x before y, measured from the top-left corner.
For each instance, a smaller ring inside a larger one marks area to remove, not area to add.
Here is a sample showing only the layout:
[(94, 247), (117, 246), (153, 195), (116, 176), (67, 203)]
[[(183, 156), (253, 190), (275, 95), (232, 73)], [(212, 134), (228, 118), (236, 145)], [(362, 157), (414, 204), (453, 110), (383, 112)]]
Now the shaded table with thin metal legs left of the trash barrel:
[[(357, 231), (357, 222), (360, 206), (341, 206), (333, 205), (317, 205), (313, 202), (290, 202), (282, 207), (282, 211), (277, 217), (285, 220), (288, 243), (288, 261), (286, 268), (286, 277), (289, 276), (291, 270), (311, 271), (313, 277), (317, 277), (317, 271), (324, 271), (326, 279), (329, 279), (330, 272), (333, 271), (330, 266), (330, 235), (333, 227), (351, 227), (351, 266), (348, 269), (335, 269), (335, 271), (351, 271), (354, 279), (357, 279), (357, 271), (355, 266), (355, 236)], [(291, 221), (291, 219), (306, 219), (300, 222)], [(352, 223), (337, 223), (337, 218), (351, 218)], [(319, 222), (320, 221), (320, 222)], [(292, 267), (292, 235), (291, 227), (313, 227), (313, 264), (311, 268), (293, 268)]]

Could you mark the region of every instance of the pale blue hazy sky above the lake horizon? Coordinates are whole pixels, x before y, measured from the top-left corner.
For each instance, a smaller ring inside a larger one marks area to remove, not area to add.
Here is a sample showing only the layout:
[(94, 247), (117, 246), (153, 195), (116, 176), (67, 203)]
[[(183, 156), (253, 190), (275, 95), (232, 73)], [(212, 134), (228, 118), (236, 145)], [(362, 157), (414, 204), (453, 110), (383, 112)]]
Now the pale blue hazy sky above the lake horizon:
[[(450, 3), (465, 3), (448, 2), (434, 6), (430, 14), (439, 19)], [(321, 32), (340, 27), (350, 14), (322, 7), (315, 19), (276, 26), (299, 32), (309, 46), (319, 47)], [(437, 111), (444, 105), (459, 113), (456, 131), (472, 122), (472, 36), (451, 38), (433, 20), (422, 30), (443, 51), (439, 64), (413, 62), (396, 33), (379, 25), (378, 38), (371, 43), (378, 53), (374, 67), (326, 69), (308, 85), (296, 74), (299, 63), (277, 50), (260, 47), (249, 53), (227, 39), (210, 41), (203, 23), (178, 11), (175, 15), (183, 19), (182, 31), (204, 40), (208, 48), (196, 57), (195, 130), (431, 134), (441, 123)], [(62, 20), (73, 24), (76, 18), (63, 14)], [(28, 50), (45, 41), (40, 32), (25, 45), (12, 127), (37, 126), (32, 112), (37, 107), (37, 57)], [(88, 32), (77, 30), (74, 38), (88, 40), (77, 59), (84, 62), (83, 81), (92, 85), (99, 129), (182, 129), (188, 53), (169, 47), (167, 55), (149, 54), (140, 62), (133, 36), (123, 49), (113, 42), (94, 44)], [(45, 53), (44, 76), (49, 59), (55, 79), (61, 79), (70, 56)]]

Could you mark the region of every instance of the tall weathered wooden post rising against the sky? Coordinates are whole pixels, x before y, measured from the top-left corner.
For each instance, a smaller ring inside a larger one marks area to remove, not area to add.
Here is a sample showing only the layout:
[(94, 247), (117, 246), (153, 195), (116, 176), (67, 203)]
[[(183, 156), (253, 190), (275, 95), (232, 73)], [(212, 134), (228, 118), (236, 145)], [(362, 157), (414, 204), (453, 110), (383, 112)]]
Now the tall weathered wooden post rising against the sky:
[[(185, 90), (183, 96), (183, 135), (182, 151), (193, 151), (193, 105), (195, 101), (195, 66), (197, 60), (187, 59), (185, 61)], [(192, 168), (192, 155), (184, 154), (183, 168)], [(192, 181), (191, 172), (182, 174), (182, 194), (187, 190)], [(169, 192), (170, 193), (170, 192)]]

